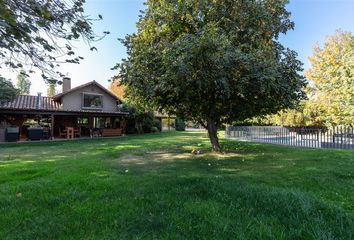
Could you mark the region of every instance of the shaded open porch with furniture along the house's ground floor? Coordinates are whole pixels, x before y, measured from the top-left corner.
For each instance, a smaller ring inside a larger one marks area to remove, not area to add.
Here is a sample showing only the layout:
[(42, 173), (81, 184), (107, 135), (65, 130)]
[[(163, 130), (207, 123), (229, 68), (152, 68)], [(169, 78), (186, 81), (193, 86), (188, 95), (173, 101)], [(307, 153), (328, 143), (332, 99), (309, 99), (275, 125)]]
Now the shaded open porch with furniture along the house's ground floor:
[(1, 111), (0, 142), (113, 137), (125, 134), (126, 114)]

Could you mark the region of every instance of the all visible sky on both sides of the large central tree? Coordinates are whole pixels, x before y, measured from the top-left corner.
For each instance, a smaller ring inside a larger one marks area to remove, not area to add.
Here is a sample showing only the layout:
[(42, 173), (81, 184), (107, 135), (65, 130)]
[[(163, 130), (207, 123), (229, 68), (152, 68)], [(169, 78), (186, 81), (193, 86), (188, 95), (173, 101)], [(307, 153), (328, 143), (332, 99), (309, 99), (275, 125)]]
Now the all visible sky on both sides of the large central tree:
[[(117, 40), (126, 34), (136, 31), (139, 10), (144, 9), (144, 0), (87, 0), (85, 10), (88, 15), (103, 15), (103, 20), (94, 22), (97, 33), (108, 30), (111, 32), (105, 39), (93, 45), (97, 52), (89, 51), (84, 43), (74, 43), (76, 52), (85, 57), (80, 65), (72, 64), (62, 67), (72, 79), (72, 86), (96, 80), (108, 86), (108, 79), (115, 72), (110, 68), (126, 57), (124, 46)], [(323, 43), (325, 37), (334, 34), (336, 29), (354, 32), (354, 0), (290, 0), (287, 9), (292, 13), (295, 29), (281, 36), (280, 41), (299, 54), (304, 68), (310, 67), (308, 57), (316, 43)], [(2, 70), (5, 77), (16, 78), (15, 73)], [(31, 93), (46, 94), (43, 80), (31, 77)]]

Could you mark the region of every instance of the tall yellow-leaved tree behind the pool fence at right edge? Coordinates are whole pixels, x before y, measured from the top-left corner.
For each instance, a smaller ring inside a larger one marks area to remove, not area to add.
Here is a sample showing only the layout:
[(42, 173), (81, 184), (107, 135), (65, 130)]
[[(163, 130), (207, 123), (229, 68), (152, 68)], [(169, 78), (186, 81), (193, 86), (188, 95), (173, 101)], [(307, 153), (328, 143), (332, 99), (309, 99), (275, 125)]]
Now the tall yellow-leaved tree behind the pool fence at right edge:
[(314, 101), (330, 125), (354, 125), (354, 36), (337, 30), (317, 45), (305, 73), (312, 81)]

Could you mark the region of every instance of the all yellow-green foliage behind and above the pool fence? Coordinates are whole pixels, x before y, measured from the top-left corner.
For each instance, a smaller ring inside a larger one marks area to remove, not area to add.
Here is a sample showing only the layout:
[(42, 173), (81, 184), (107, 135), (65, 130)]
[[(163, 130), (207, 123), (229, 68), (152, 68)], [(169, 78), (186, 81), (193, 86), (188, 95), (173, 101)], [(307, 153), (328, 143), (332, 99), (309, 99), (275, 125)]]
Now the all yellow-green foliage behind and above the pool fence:
[[(338, 30), (316, 46), (306, 72), (308, 100), (296, 109), (266, 116), (263, 124), (283, 126), (354, 125), (354, 36)], [(255, 120), (255, 119), (253, 119)], [(252, 121), (251, 121), (252, 122)], [(252, 122), (254, 123), (254, 121)]]

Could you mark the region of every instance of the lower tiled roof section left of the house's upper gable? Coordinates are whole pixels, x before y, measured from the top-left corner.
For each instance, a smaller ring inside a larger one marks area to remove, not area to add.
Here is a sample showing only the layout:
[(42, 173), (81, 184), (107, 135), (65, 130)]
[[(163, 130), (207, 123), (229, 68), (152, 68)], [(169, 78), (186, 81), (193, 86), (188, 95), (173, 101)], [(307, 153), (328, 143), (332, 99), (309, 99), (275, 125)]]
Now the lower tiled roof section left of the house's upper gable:
[[(39, 101), (40, 100), (40, 101)], [(20, 95), (12, 102), (0, 103), (2, 109), (24, 109), (24, 110), (46, 110), (46, 111), (60, 111), (62, 105), (55, 102), (51, 97)]]

